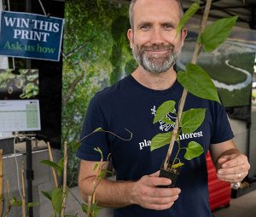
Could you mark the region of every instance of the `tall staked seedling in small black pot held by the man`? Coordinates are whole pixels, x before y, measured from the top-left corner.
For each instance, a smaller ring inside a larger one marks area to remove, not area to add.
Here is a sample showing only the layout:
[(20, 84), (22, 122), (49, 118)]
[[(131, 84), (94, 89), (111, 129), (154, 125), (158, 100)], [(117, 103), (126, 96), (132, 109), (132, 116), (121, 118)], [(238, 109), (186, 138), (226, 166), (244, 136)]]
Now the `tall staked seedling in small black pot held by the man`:
[[(195, 130), (201, 126), (201, 123), (203, 123), (206, 114), (206, 109), (204, 108), (191, 108), (188, 111), (183, 111), (188, 92), (203, 99), (219, 102), (218, 92), (212, 83), (211, 77), (209, 77), (201, 66), (196, 65), (196, 62), (202, 48), (204, 48), (206, 52), (211, 52), (216, 49), (218, 45), (223, 43), (226, 37), (229, 37), (230, 31), (236, 23), (237, 16), (217, 20), (206, 27), (211, 3), (212, 0), (207, 0), (191, 63), (186, 66), (186, 71), (177, 72), (177, 81), (184, 88), (183, 95), (179, 100), (177, 113), (175, 111), (175, 101), (168, 100), (158, 107), (154, 117), (154, 123), (161, 121), (174, 125), (172, 132), (156, 134), (151, 140), (150, 146), (151, 151), (154, 151), (157, 148), (169, 144), (165, 161), (160, 168), (160, 176), (172, 180), (172, 184), (167, 187), (175, 186), (177, 175), (183, 167), (184, 163), (177, 157), (182, 149), (185, 149), (184, 158), (186, 160), (199, 157), (204, 152), (203, 147), (195, 141), (190, 141), (187, 147), (180, 146), (179, 135), (181, 133), (192, 134), (195, 132)], [(199, 3), (193, 3), (190, 6), (177, 27), (177, 33), (183, 29), (183, 26), (199, 8)], [(172, 120), (167, 116), (170, 112), (177, 116), (175, 123), (172, 123)], [(174, 154), (175, 157), (173, 159), (170, 159), (175, 142), (175, 145), (177, 145), (177, 153)]]

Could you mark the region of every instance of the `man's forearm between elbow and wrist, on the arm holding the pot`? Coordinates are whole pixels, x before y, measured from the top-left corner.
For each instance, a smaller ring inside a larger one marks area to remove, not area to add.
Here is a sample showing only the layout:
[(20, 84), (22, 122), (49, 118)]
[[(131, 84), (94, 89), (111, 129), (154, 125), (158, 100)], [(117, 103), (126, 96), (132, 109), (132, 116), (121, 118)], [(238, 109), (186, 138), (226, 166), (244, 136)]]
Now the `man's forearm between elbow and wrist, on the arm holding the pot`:
[[(84, 201), (92, 194), (93, 182), (95, 176), (83, 181), (79, 186)], [(131, 189), (134, 182), (132, 181), (115, 181), (103, 179), (96, 186), (96, 202), (99, 206), (108, 208), (121, 208), (131, 205)]]

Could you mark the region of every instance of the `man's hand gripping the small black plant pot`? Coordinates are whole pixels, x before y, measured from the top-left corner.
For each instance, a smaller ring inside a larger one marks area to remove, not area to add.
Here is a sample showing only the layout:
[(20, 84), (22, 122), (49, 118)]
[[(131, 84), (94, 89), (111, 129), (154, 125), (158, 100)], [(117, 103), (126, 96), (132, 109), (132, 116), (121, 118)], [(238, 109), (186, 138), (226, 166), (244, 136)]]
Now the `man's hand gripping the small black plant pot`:
[(143, 208), (162, 210), (171, 208), (181, 192), (179, 188), (159, 188), (171, 184), (171, 180), (159, 177), (160, 172), (145, 175), (131, 189), (131, 203)]

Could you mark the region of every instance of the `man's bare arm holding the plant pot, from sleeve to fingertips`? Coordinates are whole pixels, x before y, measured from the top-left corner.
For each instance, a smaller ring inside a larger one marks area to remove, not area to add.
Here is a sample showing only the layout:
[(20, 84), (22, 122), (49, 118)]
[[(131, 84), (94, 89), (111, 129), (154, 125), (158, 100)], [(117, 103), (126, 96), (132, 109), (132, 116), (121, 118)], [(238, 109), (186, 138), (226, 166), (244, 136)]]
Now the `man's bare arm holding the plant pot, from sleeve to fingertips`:
[[(84, 201), (92, 194), (93, 182), (96, 180), (95, 163), (81, 160), (79, 168), (79, 189)], [(108, 162), (102, 163), (104, 168)], [(138, 204), (143, 208), (162, 210), (172, 207), (177, 200), (180, 189), (159, 188), (171, 183), (169, 179), (160, 178), (159, 172), (145, 175), (137, 181), (113, 181), (103, 179), (96, 187), (96, 202), (102, 207), (121, 208)]]

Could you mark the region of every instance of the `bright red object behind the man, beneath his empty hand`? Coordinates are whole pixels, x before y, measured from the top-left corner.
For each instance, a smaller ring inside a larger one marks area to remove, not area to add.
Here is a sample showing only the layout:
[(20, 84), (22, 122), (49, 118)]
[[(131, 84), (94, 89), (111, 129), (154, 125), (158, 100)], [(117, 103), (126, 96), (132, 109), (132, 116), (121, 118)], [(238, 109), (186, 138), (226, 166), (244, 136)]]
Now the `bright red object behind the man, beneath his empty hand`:
[(218, 180), (216, 169), (212, 163), (212, 158), (207, 153), (208, 189), (209, 203), (211, 210), (215, 208), (227, 207), (230, 205), (231, 184), (223, 180)]

